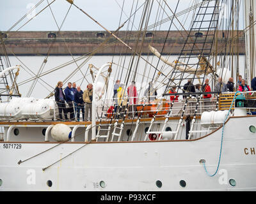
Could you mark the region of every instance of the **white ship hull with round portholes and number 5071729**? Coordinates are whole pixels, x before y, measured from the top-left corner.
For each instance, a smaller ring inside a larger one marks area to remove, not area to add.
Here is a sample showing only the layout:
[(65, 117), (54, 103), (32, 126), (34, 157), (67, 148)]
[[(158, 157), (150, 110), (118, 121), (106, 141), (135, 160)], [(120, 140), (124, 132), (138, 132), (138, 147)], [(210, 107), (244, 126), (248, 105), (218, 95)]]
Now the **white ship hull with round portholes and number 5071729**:
[[(195, 140), (60, 145), (1, 142), (0, 190), (255, 191), (256, 133), (249, 129), (254, 124), (253, 116), (230, 117), (226, 122), (220, 166), (213, 177), (207, 175), (200, 159), (205, 159), (210, 174), (216, 171), (222, 128)], [(36, 154), (40, 155), (28, 159)], [(19, 160), (24, 162), (18, 164)], [(230, 179), (236, 181), (235, 186), (230, 185)], [(185, 187), (180, 186), (180, 180), (186, 182)]]

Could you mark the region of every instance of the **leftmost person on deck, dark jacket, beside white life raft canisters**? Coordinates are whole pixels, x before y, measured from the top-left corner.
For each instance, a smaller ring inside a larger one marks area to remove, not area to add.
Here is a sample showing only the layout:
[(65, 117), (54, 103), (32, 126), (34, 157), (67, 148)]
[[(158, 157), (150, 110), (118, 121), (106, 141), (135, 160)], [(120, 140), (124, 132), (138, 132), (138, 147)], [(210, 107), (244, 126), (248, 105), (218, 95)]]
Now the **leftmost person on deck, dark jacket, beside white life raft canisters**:
[(63, 93), (62, 86), (63, 86), (63, 83), (58, 82), (56, 88), (54, 89), (54, 97), (59, 108), (60, 119), (62, 120), (62, 111), (63, 111), (65, 119), (68, 120), (67, 109), (65, 105), (66, 97), (65, 97), (65, 94)]

